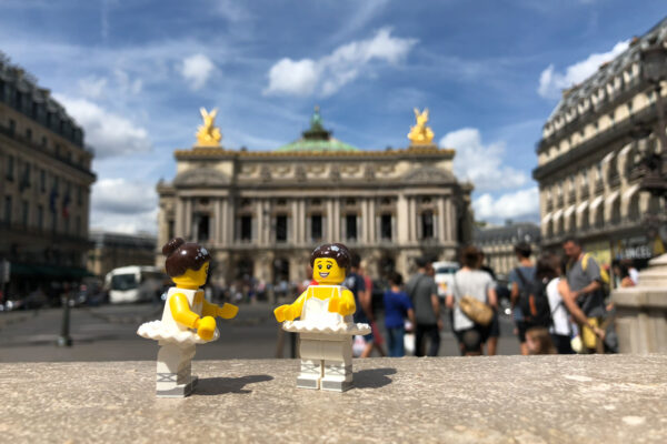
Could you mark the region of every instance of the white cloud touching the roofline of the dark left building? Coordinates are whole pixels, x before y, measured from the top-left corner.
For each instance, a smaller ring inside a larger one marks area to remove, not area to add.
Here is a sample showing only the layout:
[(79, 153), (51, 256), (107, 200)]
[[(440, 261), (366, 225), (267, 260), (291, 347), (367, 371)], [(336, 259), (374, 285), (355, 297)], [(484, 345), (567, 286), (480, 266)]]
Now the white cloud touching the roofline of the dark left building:
[(83, 127), (86, 144), (94, 149), (96, 159), (146, 152), (152, 149), (148, 131), (135, 122), (109, 112), (87, 99), (54, 94), (68, 114)]

